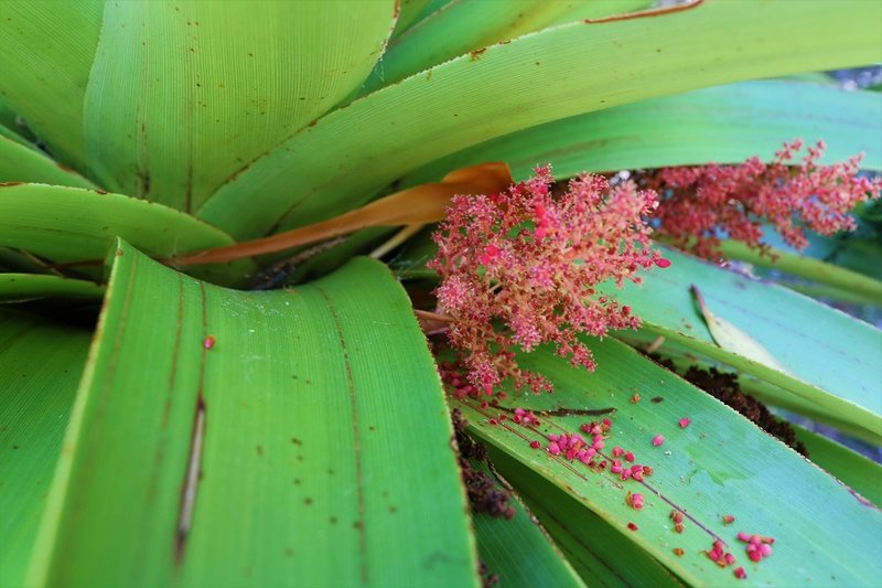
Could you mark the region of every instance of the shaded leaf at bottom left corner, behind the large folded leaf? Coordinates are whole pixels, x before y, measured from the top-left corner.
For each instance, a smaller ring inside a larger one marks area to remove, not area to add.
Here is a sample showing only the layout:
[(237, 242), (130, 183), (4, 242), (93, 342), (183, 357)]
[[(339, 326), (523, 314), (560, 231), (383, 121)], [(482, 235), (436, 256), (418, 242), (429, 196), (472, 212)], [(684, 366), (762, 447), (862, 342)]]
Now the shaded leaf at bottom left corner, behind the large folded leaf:
[(23, 586), (90, 332), (0, 310), (0, 586)]

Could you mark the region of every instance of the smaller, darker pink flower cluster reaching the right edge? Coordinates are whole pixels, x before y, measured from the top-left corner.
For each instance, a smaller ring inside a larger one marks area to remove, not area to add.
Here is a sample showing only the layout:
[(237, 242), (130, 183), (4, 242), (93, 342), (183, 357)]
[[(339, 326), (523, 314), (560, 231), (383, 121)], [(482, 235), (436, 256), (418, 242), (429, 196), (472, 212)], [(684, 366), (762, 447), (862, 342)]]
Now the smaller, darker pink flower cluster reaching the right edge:
[(805, 228), (824, 235), (853, 231), (848, 212), (868, 197), (879, 197), (882, 180), (856, 174), (862, 159), (821, 165), (824, 142), (808, 147), (784, 143), (771, 163), (751, 158), (740, 165), (665, 168), (647, 179), (662, 195), (655, 215), (658, 235), (709, 259), (720, 257), (720, 236), (741, 240), (765, 254), (762, 224), (775, 227), (796, 248), (808, 244)]

